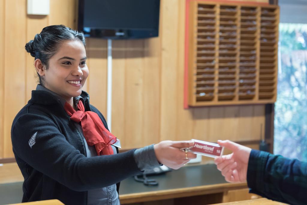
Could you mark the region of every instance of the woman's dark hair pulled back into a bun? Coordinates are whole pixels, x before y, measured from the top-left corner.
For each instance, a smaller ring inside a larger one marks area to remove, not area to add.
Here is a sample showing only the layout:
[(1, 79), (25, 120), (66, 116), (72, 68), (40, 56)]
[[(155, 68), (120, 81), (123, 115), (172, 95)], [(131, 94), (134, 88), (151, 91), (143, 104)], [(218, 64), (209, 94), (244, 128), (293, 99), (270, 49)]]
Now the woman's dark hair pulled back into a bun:
[[(42, 64), (48, 69), (49, 59), (57, 52), (61, 43), (66, 40), (79, 40), (85, 46), (85, 37), (82, 32), (78, 32), (64, 25), (51, 25), (43, 28), (41, 33), (37, 33), (33, 40), (25, 44), (25, 50), (34, 57), (40, 59)], [(37, 74), (38, 75), (38, 74)], [(41, 82), (41, 76), (39, 83)]]

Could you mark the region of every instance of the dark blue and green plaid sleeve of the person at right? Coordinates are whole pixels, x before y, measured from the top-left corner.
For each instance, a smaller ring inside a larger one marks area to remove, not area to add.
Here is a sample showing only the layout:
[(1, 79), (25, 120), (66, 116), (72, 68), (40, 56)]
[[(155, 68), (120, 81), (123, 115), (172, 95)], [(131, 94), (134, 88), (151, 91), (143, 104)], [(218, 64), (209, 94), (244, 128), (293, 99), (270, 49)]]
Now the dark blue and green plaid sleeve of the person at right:
[(247, 185), (255, 193), (283, 203), (306, 204), (307, 162), (252, 150)]

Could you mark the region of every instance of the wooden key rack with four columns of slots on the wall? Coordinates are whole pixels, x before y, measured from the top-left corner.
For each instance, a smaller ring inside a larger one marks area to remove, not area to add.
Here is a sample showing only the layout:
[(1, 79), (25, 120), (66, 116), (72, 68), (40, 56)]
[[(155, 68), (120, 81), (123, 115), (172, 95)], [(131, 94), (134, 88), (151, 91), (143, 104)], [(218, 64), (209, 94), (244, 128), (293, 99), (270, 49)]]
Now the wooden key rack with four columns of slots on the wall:
[(188, 105), (274, 103), (279, 7), (191, 1)]

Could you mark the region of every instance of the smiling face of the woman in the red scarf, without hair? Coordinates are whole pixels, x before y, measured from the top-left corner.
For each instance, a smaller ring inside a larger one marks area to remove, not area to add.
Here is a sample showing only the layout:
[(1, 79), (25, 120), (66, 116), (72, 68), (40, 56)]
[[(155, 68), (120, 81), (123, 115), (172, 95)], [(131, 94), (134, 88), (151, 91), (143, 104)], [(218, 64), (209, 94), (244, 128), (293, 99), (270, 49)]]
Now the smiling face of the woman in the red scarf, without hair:
[(67, 40), (61, 43), (58, 52), (49, 59), (48, 69), (40, 59), (36, 59), (34, 65), (43, 86), (59, 94), (73, 106), (72, 97), (81, 95), (88, 76), (85, 60), (83, 43)]

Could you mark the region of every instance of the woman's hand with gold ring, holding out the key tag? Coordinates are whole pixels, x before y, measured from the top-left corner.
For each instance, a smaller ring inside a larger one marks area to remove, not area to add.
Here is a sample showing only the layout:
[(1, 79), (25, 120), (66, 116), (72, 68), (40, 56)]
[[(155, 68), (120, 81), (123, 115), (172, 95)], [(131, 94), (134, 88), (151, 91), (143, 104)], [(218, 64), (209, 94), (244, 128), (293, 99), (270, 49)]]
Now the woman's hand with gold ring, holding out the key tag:
[(180, 150), (180, 148), (186, 148), (194, 145), (193, 141), (161, 141), (158, 144), (153, 145), (154, 152), (157, 160), (165, 166), (173, 169), (179, 169), (190, 159), (196, 158), (196, 154)]

